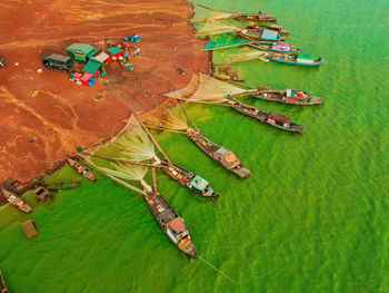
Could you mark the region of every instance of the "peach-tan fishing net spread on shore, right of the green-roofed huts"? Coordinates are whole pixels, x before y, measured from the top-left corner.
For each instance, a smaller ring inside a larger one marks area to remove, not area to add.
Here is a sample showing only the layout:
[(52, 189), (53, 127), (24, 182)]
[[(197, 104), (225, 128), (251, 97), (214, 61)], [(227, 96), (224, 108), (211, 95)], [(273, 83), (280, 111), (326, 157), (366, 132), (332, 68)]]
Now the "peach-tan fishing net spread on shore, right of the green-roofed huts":
[[(197, 89), (193, 90), (196, 86)], [(190, 84), (186, 88), (166, 94), (164, 96), (192, 102), (207, 101), (219, 104), (227, 101), (228, 97), (245, 94), (246, 91), (246, 89), (218, 80), (202, 72), (194, 72)]]

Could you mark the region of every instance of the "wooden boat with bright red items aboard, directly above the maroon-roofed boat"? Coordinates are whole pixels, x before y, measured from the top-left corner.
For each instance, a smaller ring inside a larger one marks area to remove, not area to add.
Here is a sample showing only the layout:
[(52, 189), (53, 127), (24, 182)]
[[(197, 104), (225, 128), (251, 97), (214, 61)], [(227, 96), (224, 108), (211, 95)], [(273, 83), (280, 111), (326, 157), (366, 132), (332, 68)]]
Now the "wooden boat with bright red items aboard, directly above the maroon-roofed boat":
[(301, 89), (283, 89), (283, 90), (260, 90), (258, 95), (252, 95), (258, 99), (278, 101), (292, 105), (320, 105), (322, 99), (309, 96), (307, 90)]

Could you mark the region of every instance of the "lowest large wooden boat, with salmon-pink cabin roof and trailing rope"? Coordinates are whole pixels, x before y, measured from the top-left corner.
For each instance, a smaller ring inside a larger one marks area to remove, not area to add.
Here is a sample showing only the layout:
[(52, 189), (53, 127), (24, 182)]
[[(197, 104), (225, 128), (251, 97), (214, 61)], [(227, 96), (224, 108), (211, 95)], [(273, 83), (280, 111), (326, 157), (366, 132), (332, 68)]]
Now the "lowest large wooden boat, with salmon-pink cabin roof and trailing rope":
[(174, 212), (157, 191), (148, 192), (144, 195), (144, 199), (151, 214), (171, 242), (188, 257), (196, 257), (193, 241), (183, 223), (183, 218)]

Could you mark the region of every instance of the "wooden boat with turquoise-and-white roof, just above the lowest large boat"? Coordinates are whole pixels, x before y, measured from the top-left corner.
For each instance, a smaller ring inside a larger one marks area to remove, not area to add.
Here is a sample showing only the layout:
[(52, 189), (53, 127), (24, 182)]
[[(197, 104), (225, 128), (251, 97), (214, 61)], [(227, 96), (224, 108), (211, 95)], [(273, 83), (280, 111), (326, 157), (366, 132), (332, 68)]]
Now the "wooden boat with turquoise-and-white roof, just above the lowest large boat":
[(174, 164), (164, 162), (161, 169), (169, 175), (170, 178), (187, 187), (192, 193), (213, 199), (218, 199), (220, 196), (218, 193), (213, 192), (212, 187), (209, 186), (209, 183), (205, 178)]

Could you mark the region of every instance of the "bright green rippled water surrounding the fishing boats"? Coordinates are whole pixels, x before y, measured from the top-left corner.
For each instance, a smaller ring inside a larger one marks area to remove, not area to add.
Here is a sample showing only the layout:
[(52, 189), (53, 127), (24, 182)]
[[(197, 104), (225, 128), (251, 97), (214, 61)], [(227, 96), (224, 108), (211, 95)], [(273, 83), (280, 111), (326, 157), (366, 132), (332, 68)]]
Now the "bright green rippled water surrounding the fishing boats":
[[(32, 215), (0, 207), (0, 268), (14, 293), (389, 292), (389, 2), (387, 0), (201, 1), (269, 11), (320, 68), (249, 61), (247, 85), (303, 88), (319, 107), (245, 101), (292, 117), (285, 133), (218, 106), (191, 106), (202, 133), (252, 172), (239, 179), (179, 134), (158, 140), (171, 160), (221, 194), (217, 204), (159, 174), (201, 260), (188, 261), (163, 235), (143, 198), (107, 177), (60, 192)], [(198, 13), (203, 10), (197, 9)], [(233, 51), (233, 50), (231, 50)], [(221, 60), (228, 51), (216, 53)], [(50, 177), (79, 179), (66, 167)], [(20, 228), (33, 218), (40, 235)]]

